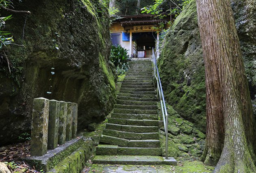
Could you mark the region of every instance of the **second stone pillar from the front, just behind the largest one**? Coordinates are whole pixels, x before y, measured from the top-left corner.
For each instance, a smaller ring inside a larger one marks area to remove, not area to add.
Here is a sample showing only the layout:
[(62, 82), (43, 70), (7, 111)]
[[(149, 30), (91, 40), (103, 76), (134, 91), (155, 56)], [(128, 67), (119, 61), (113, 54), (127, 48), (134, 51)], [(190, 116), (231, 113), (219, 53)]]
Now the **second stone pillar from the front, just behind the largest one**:
[(59, 113), (60, 113), (60, 103), (57, 100), (50, 100), (49, 125), (48, 125), (48, 149), (54, 149), (58, 146)]

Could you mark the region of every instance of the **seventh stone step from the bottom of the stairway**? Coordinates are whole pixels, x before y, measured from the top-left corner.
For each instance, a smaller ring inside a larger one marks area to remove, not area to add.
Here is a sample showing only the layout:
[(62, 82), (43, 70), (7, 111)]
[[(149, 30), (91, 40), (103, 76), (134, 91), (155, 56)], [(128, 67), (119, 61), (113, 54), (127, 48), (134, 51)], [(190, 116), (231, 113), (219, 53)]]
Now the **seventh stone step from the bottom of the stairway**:
[(158, 120), (158, 115), (157, 114), (120, 114), (120, 113), (112, 113), (111, 118)]

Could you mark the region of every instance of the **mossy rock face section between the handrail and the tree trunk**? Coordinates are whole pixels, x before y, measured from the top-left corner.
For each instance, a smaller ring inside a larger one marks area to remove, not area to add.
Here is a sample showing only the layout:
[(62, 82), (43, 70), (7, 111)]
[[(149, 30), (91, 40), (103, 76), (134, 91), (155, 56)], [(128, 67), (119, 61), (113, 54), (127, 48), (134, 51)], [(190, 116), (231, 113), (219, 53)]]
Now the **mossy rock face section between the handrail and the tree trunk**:
[(190, 2), (169, 28), (158, 65), (167, 102), (204, 132), (204, 62), (195, 1)]

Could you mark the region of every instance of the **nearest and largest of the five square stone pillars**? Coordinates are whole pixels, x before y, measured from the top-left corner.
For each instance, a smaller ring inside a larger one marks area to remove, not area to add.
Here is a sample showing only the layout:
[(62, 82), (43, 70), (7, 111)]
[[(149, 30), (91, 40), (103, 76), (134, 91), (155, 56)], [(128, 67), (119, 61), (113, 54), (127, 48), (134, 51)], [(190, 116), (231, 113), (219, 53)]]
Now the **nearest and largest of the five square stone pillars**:
[(49, 100), (43, 97), (33, 101), (31, 156), (43, 156), (47, 152)]

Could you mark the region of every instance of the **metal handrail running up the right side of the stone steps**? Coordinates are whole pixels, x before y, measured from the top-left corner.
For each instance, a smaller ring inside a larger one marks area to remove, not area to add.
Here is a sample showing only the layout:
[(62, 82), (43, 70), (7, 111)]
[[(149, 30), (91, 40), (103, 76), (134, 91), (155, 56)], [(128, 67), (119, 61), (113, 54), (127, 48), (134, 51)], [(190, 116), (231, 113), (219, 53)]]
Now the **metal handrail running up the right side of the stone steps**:
[[(154, 48), (152, 48), (152, 62), (154, 64), (154, 76), (156, 78), (156, 84), (157, 84), (157, 96), (159, 96), (160, 103), (161, 103), (161, 114), (163, 115), (163, 122), (164, 122), (164, 127), (165, 127), (165, 159), (168, 159), (168, 114), (167, 114), (167, 109), (165, 106), (165, 97), (163, 93), (163, 88), (161, 84), (161, 79), (159, 76), (159, 71), (157, 68), (156, 64), (156, 56), (154, 52)], [(156, 76), (157, 74), (157, 76)], [(160, 117), (162, 120), (162, 116)]]

